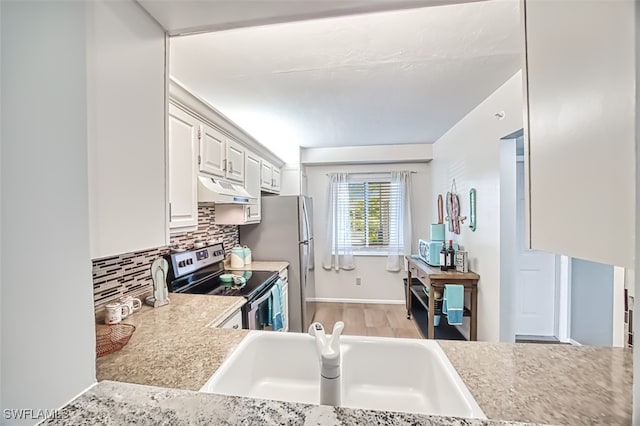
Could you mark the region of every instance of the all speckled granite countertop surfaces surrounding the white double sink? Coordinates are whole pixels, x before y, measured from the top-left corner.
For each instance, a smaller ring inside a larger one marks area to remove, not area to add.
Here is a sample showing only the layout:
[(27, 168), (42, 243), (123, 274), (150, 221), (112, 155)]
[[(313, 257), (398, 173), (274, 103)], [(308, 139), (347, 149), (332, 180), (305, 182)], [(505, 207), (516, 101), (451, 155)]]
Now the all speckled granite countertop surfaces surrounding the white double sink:
[(171, 305), (145, 308), (127, 319), (137, 330), (121, 351), (98, 359), (97, 378), (107, 382), (65, 408), (77, 416), (71, 423), (631, 423), (632, 351), (622, 348), (439, 340), (489, 421), (186, 392), (199, 390), (248, 333), (207, 327), (245, 302), (240, 297), (170, 297)]

